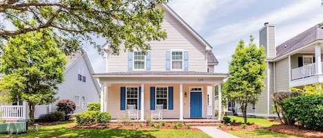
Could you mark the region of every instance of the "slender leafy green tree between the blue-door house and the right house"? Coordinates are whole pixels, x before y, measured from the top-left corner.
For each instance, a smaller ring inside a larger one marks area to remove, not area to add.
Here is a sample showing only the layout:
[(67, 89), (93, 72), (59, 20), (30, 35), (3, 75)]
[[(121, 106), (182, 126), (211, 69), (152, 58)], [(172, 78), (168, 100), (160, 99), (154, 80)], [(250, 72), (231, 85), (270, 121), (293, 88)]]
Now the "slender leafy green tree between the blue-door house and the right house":
[(258, 48), (250, 36), (249, 45), (240, 41), (229, 66), (229, 79), (225, 82), (224, 93), (230, 100), (240, 104), (244, 124), (247, 124), (247, 105), (255, 104), (264, 89), (264, 47)]

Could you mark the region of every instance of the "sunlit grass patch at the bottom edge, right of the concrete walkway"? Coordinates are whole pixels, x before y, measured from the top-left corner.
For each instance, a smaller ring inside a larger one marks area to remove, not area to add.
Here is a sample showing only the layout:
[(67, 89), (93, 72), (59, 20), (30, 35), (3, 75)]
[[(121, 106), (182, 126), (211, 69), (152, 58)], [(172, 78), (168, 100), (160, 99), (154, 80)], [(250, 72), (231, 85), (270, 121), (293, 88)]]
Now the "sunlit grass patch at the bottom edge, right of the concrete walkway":
[(269, 130), (265, 129), (256, 129), (256, 130), (236, 130), (236, 131), (228, 131), (232, 135), (236, 135), (242, 138), (301, 138), (293, 135), (285, 135), (280, 133), (273, 133)]

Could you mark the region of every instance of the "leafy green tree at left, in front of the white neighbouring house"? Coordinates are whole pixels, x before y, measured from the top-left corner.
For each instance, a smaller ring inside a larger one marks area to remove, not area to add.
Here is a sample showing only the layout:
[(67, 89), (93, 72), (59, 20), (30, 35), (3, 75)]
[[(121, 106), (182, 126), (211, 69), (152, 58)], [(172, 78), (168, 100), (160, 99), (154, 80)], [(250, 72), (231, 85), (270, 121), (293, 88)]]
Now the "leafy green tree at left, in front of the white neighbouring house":
[(63, 82), (65, 54), (48, 29), (12, 36), (2, 46), (0, 71), (4, 73), (0, 91), (8, 102), (25, 100), (34, 122), (34, 107), (56, 99), (56, 84)]

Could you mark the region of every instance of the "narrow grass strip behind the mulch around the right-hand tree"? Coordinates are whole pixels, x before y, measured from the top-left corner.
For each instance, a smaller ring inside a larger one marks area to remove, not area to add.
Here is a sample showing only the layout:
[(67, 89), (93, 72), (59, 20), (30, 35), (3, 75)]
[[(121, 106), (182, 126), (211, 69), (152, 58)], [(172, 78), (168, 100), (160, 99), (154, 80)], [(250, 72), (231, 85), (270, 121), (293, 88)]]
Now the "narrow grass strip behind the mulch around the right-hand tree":
[[(238, 117), (238, 116), (229, 116), (229, 117), (231, 118), (231, 122), (233, 121), (233, 119), (235, 119), (236, 122), (244, 122), (243, 117)], [(251, 117), (247, 117), (247, 122), (249, 122), (251, 124), (257, 124), (259, 126), (264, 126), (264, 127), (268, 127), (273, 124), (280, 124), (278, 122), (269, 122), (269, 121), (262, 119), (262, 118), (251, 118)]]

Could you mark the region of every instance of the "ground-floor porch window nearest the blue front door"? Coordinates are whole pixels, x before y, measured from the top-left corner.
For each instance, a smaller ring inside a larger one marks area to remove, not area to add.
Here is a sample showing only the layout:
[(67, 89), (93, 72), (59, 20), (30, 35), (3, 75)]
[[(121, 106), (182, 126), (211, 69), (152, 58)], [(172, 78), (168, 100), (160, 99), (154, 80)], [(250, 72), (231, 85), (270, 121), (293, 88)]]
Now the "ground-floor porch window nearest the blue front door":
[(167, 87), (156, 87), (156, 104), (163, 104), (163, 109), (167, 109)]

